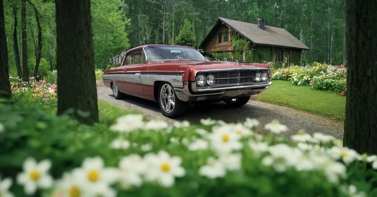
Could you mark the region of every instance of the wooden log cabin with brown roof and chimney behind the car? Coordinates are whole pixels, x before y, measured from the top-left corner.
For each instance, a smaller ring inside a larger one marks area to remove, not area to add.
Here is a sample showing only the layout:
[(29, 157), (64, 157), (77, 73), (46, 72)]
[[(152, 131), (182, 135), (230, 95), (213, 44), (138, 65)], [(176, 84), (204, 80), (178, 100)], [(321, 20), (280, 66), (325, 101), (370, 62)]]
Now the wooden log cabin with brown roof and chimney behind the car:
[(298, 64), (302, 50), (309, 50), (309, 47), (287, 30), (265, 24), (264, 17), (257, 18), (257, 24), (218, 17), (199, 49), (210, 57), (214, 52), (230, 52), (234, 55), (239, 49), (234, 47), (232, 38), (245, 39), (248, 46), (243, 52), (251, 50), (253, 61)]

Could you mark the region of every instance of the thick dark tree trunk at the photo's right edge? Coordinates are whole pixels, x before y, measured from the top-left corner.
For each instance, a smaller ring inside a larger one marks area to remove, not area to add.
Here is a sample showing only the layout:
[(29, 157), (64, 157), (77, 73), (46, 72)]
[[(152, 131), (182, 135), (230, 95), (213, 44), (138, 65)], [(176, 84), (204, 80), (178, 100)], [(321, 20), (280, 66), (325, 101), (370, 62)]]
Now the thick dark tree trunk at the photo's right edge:
[(346, 0), (347, 99), (343, 144), (377, 154), (377, 1)]

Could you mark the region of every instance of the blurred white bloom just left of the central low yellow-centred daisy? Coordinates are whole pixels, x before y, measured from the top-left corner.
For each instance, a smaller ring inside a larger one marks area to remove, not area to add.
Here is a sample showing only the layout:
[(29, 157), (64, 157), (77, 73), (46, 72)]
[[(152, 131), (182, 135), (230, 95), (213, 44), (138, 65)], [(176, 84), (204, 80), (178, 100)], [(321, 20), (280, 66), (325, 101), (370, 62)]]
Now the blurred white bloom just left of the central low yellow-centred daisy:
[(138, 154), (131, 154), (119, 161), (119, 180), (123, 188), (132, 185), (141, 186), (141, 174), (147, 170), (147, 165)]

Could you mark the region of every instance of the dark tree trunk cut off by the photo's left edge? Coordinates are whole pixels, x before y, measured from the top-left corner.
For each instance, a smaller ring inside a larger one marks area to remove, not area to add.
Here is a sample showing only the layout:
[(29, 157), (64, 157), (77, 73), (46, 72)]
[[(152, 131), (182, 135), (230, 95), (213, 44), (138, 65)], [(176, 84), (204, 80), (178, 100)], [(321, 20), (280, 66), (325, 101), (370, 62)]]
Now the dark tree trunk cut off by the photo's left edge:
[(6, 46), (5, 18), (3, 0), (0, 0), (0, 98), (10, 98), (12, 95), (9, 83), (8, 49)]

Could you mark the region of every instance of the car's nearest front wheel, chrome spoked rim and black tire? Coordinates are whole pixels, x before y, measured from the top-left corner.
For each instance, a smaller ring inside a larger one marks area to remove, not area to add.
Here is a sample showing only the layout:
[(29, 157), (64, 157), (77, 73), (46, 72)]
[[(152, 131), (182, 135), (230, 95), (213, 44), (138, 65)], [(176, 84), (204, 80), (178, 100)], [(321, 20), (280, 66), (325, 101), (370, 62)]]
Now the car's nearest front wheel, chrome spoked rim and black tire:
[[(158, 88), (158, 104), (160, 105), (162, 115), (169, 118), (181, 116), (189, 108), (189, 103), (179, 100), (172, 85), (167, 82), (161, 83)], [(173, 109), (171, 109), (172, 107)]]

